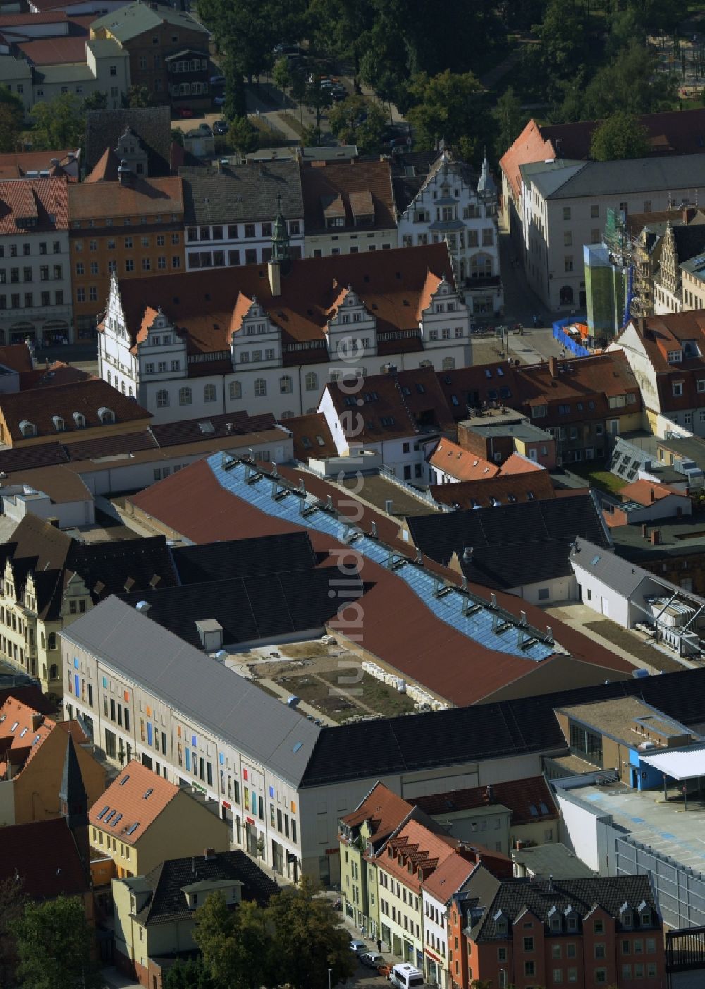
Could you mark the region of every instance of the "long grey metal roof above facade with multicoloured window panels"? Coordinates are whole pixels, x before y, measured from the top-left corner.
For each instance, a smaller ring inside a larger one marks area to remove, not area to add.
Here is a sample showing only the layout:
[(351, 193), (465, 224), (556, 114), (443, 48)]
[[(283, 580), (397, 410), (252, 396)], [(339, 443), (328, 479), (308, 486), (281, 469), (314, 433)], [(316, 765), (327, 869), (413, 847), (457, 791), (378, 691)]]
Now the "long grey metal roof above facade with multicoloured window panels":
[(320, 728), (124, 601), (108, 597), (62, 637), (283, 779), (301, 782)]

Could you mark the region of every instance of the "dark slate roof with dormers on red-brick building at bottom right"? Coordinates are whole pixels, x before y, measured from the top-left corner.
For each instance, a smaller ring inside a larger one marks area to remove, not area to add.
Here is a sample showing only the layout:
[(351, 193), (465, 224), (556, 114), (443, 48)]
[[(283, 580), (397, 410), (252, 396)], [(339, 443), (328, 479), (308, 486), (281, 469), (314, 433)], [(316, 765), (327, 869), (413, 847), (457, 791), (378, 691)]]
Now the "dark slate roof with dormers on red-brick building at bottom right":
[[(610, 917), (617, 919), (616, 929), (621, 931), (619, 923), (619, 911), (624, 903), (627, 903), (632, 911), (636, 912), (639, 905), (647, 904), (652, 913), (652, 924), (643, 929), (650, 933), (655, 928), (661, 926), (661, 919), (657, 909), (654, 892), (648, 875), (615, 875), (615, 876), (594, 876), (584, 879), (553, 879), (548, 881), (521, 879), (494, 880), (494, 895), (491, 901), (487, 892), (491, 890), (491, 884), (485, 880), (485, 876), (471, 877), (467, 887), (469, 897), (474, 897), (476, 888), (478, 896), (478, 906), (485, 907), (485, 913), (472, 928), (472, 938), (476, 942), (505, 942), (511, 938), (511, 924), (519, 917), (524, 909), (530, 910), (539, 921), (543, 921), (546, 926), (546, 933), (550, 934), (548, 925), (549, 911), (552, 907), (563, 915), (569, 908), (580, 920), (583, 920), (595, 905), (602, 907)], [(487, 886), (489, 885), (489, 889)], [(482, 891), (481, 891), (482, 887)], [(490, 893), (491, 895), (491, 893)], [(485, 898), (486, 897), (486, 898)], [(501, 911), (508, 922), (507, 934), (496, 933), (494, 924), (495, 914)], [(634, 927), (629, 930), (633, 931)], [(637, 930), (639, 923), (637, 919)], [(562, 924), (562, 934), (566, 933)]]

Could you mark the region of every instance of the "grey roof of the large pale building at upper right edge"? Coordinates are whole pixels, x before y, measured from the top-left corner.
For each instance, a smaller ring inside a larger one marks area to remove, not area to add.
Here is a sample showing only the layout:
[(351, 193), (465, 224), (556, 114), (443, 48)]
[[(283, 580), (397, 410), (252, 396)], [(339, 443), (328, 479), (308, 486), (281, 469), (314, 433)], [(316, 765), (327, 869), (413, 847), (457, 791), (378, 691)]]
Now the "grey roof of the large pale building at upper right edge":
[(551, 199), (636, 196), (645, 192), (696, 190), (699, 186), (705, 186), (705, 155), (673, 154), (664, 158), (583, 162), (582, 168), (548, 196)]

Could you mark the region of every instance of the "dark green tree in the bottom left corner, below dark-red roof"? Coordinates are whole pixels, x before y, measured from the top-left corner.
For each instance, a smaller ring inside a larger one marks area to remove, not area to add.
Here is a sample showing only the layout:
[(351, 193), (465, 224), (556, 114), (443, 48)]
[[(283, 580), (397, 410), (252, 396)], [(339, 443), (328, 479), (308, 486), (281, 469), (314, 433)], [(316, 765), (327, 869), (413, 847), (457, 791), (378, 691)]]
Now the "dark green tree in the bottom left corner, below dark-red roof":
[(17, 974), (27, 989), (102, 989), (93, 931), (78, 897), (27, 903), (12, 932)]

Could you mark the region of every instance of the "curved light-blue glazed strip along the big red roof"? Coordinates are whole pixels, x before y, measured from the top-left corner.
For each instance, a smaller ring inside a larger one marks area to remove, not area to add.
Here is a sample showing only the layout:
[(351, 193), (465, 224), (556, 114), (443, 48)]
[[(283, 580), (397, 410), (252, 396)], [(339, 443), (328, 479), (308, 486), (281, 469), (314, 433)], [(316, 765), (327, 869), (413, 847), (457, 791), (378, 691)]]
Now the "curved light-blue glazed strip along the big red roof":
[[(344, 542), (346, 532), (350, 534), (349, 520), (339, 520), (323, 508), (303, 514), (301, 503), (304, 495), (289, 488), (286, 483), (283, 484), (281, 479), (257, 475), (256, 468), (252, 465), (221, 453), (209, 457), (208, 463), (222, 488), (248, 501), (265, 514), (316, 532), (325, 532), (338, 542)], [(273, 496), (275, 493), (276, 497)], [(317, 499), (308, 499), (308, 505), (313, 506), (316, 503)], [(353, 546), (363, 557), (383, 567), (389, 566), (390, 548), (379, 540), (361, 534), (355, 539)], [(536, 663), (547, 659), (554, 652), (553, 643), (544, 641), (540, 632), (528, 626), (520, 628), (518, 619), (489, 605), (481, 605), (472, 614), (465, 614), (468, 596), (459, 588), (453, 588), (451, 593), (440, 597), (434, 596), (438, 578), (416, 564), (403, 563), (395, 573), (437, 618), (487, 649), (530, 659)], [(498, 631), (502, 625), (503, 631)], [(533, 634), (537, 634), (539, 638), (532, 638)]]

